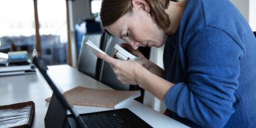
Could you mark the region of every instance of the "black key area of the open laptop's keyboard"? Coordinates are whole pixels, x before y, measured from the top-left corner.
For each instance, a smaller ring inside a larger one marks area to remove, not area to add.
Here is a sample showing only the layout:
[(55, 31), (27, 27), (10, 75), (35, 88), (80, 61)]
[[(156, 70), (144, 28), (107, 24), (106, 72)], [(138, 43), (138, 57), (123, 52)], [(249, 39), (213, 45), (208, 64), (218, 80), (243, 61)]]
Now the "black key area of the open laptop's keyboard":
[(90, 127), (129, 127), (120, 116), (112, 111), (83, 115), (82, 118)]

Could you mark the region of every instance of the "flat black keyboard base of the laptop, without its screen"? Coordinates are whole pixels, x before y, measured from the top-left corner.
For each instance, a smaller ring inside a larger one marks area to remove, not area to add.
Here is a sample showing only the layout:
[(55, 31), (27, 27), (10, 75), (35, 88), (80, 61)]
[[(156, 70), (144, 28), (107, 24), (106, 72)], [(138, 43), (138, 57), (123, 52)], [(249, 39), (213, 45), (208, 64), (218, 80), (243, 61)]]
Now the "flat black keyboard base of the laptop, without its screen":
[[(113, 109), (108, 111), (99, 111), (95, 113), (80, 114), (84, 123), (88, 127), (151, 127), (140, 117), (132, 113), (129, 109)], [(68, 127), (77, 128), (76, 120), (72, 115), (67, 116)]]

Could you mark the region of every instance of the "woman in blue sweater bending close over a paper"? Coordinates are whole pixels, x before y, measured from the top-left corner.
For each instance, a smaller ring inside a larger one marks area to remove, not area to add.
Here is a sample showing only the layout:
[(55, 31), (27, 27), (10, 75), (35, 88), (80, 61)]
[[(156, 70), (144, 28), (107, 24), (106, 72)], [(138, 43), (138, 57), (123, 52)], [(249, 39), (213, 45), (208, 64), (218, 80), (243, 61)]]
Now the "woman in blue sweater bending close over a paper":
[[(228, 0), (103, 0), (100, 17), (141, 58), (97, 54), (122, 83), (140, 85), (191, 127), (255, 127), (256, 40)], [(164, 42), (164, 70), (136, 51)]]

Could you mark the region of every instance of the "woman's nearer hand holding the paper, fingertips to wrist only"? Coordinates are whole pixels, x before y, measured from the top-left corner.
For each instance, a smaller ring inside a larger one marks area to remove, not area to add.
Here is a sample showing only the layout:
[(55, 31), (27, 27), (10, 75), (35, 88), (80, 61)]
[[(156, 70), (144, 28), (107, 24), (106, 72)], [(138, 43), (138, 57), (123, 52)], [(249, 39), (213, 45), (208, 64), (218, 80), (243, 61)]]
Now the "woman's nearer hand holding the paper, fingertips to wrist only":
[(122, 61), (101, 53), (98, 53), (97, 57), (108, 62), (113, 67), (117, 79), (123, 84), (138, 84), (137, 74), (140, 68), (143, 67), (137, 61)]

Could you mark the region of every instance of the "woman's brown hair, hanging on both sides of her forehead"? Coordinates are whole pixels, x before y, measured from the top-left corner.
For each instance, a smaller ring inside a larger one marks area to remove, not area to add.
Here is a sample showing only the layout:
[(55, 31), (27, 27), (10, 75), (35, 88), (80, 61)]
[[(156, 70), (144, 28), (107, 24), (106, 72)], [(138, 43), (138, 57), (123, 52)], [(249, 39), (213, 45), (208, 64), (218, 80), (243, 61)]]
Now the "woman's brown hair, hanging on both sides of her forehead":
[[(168, 8), (170, 0), (145, 0), (150, 7), (150, 15), (157, 26), (166, 30), (171, 22), (167, 13), (164, 12)], [(102, 26), (106, 27), (118, 20), (125, 13), (131, 11), (131, 0), (103, 0), (100, 10), (100, 18)]]

